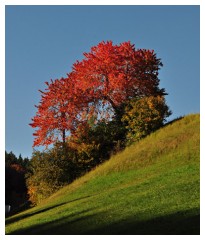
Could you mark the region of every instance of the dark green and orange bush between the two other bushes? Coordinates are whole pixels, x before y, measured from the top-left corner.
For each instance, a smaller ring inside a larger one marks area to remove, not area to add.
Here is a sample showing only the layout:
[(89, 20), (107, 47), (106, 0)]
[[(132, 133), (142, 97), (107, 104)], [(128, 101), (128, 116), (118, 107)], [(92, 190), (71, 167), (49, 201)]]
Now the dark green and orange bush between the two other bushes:
[(80, 126), (68, 141), (76, 152), (76, 164), (87, 172), (108, 160), (124, 147), (125, 131), (123, 124), (115, 119)]

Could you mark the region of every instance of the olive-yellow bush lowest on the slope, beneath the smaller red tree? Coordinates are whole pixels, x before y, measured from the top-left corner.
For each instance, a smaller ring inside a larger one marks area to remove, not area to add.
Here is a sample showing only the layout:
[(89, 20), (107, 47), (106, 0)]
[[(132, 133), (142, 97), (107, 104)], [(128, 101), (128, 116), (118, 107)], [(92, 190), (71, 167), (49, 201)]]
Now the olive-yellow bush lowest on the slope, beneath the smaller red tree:
[(38, 204), (75, 179), (75, 165), (68, 149), (55, 145), (44, 152), (34, 151), (27, 174), (29, 200)]

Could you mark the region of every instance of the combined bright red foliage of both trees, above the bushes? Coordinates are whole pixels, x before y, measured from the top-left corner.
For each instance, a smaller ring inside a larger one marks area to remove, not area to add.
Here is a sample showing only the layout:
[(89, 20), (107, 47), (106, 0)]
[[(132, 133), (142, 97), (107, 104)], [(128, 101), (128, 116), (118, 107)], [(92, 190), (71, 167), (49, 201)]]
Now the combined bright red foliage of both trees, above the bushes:
[(46, 83), (48, 88), (30, 124), (37, 128), (34, 146), (65, 142), (84, 121), (119, 115), (121, 106), (133, 97), (163, 95), (158, 71), (161, 60), (154, 51), (136, 50), (130, 42), (101, 42), (73, 64), (67, 78)]

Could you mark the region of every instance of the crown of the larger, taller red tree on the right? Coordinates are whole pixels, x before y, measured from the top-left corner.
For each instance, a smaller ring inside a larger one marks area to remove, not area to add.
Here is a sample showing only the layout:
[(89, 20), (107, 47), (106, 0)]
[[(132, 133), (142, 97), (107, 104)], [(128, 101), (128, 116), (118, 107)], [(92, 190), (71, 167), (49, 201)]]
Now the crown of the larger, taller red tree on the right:
[(159, 89), (158, 70), (162, 63), (154, 51), (135, 50), (130, 42), (113, 45), (101, 42), (84, 53), (73, 65), (76, 86), (114, 110), (132, 97), (164, 94)]

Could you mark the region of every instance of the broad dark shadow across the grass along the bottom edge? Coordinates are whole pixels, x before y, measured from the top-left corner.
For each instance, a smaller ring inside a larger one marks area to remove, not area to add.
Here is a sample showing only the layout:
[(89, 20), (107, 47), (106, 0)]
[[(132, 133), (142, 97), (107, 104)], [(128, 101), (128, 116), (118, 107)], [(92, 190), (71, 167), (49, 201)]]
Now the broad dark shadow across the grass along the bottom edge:
[[(84, 210), (54, 222), (12, 232), (12, 235), (199, 235), (200, 211), (192, 209), (149, 220), (137, 217), (106, 223), (107, 213)], [(83, 214), (83, 216), (80, 216)], [(105, 221), (101, 221), (104, 219)]]

